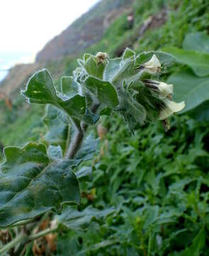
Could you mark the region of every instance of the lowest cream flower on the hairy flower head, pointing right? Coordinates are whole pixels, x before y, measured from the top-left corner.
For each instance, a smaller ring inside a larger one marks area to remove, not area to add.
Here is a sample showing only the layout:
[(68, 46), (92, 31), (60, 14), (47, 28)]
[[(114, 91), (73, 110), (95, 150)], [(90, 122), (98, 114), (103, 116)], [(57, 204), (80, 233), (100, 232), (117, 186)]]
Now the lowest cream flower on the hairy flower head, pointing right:
[(183, 107), (185, 107), (185, 102), (176, 103), (168, 99), (164, 99), (164, 104), (165, 107), (159, 112), (159, 120), (164, 120), (171, 114), (183, 110)]

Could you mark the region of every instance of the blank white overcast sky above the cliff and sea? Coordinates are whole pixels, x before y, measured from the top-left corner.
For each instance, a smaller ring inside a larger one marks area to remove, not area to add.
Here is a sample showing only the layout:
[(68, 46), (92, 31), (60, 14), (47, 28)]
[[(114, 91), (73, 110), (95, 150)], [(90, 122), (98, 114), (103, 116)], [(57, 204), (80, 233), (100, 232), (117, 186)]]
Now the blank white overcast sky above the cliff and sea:
[(98, 0), (2, 0), (0, 60), (4, 52), (35, 55)]

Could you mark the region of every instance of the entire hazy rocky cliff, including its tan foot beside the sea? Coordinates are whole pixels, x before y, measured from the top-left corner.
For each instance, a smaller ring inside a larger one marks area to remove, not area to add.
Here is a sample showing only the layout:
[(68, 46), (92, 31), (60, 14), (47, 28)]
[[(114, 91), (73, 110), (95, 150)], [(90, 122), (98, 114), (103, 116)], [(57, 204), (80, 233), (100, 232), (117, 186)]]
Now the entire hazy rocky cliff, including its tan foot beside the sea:
[[(16, 65), (6, 78), (0, 82), (0, 92), (11, 95), (32, 75), (35, 70), (47, 67), (48, 63), (60, 60), (65, 56), (77, 57), (79, 53), (89, 46), (98, 42), (106, 28), (126, 11), (134, 0), (101, 0), (93, 6), (86, 14), (78, 18), (72, 25), (65, 29), (60, 35), (52, 38), (43, 50), (38, 53), (35, 64)], [(50, 64), (49, 64), (50, 65)], [(56, 66), (60, 63), (56, 61)]]

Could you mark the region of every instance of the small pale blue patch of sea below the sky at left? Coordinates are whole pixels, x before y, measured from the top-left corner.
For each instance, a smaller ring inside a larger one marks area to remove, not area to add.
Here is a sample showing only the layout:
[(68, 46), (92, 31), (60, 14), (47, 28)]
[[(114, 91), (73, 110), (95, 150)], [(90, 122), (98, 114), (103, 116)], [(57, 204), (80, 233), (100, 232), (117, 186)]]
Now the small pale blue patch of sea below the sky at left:
[(17, 63), (30, 63), (32, 54), (28, 52), (1, 52), (0, 51), (0, 82), (9, 72), (9, 68)]

